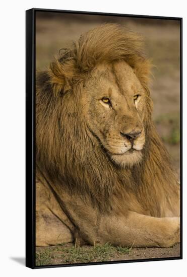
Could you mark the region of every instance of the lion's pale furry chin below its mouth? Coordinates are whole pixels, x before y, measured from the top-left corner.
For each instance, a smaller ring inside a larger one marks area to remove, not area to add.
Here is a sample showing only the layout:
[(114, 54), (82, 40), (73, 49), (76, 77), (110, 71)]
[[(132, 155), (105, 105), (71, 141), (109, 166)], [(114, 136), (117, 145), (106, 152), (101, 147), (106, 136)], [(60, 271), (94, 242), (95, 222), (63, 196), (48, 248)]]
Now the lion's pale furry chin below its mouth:
[(111, 154), (110, 158), (115, 164), (123, 168), (127, 166), (132, 167), (133, 165), (140, 163), (142, 160), (142, 151), (128, 151), (121, 155)]

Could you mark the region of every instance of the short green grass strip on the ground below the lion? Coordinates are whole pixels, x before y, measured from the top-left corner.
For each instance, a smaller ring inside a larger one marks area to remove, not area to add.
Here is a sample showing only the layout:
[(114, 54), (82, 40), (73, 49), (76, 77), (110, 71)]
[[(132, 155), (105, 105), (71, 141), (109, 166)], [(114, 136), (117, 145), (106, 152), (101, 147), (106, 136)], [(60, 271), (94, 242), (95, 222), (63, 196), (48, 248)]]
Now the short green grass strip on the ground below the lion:
[(103, 246), (66, 247), (65, 245), (64, 247), (48, 247), (36, 253), (36, 265), (102, 262), (128, 254), (130, 250), (127, 247), (114, 247), (109, 243)]

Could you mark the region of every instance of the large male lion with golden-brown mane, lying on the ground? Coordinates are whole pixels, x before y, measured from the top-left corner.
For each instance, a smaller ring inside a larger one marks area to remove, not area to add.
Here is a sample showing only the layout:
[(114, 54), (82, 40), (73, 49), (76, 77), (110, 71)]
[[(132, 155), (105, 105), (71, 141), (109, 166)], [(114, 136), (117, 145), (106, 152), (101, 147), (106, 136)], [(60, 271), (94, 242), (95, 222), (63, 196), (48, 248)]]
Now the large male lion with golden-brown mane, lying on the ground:
[(170, 247), (179, 183), (152, 120), (142, 38), (81, 35), (36, 77), (36, 246)]

